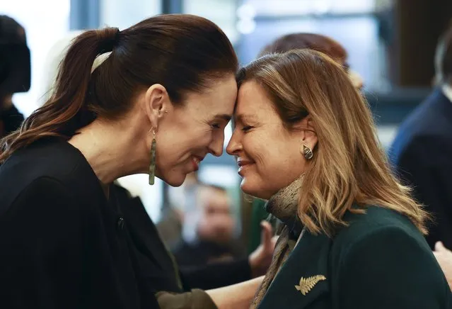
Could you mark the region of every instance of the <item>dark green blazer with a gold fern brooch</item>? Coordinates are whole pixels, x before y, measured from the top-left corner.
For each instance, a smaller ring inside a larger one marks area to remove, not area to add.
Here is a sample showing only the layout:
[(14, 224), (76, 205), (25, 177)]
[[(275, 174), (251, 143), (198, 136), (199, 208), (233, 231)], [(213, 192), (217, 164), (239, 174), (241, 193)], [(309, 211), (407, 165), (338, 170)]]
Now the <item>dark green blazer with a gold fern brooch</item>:
[(345, 220), (332, 239), (301, 237), (260, 309), (452, 308), (444, 274), (410, 220), (379, 207)]

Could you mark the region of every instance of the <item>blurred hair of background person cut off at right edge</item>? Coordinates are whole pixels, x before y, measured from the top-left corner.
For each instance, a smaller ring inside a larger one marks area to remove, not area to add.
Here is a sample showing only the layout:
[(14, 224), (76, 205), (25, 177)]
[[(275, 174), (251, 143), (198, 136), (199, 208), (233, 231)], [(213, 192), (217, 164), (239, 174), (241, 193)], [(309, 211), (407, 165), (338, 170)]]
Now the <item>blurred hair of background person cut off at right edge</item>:
[(452, 22), (436, 47), (435, 71), (436, 82), (452, 84)]

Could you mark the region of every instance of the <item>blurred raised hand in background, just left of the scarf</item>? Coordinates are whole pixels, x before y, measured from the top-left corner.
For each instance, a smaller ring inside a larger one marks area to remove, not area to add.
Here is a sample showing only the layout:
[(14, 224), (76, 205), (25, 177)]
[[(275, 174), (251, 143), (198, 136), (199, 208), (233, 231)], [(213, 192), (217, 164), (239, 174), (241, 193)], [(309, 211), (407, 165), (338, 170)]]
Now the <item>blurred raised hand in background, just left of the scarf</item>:
[(273, 235), (273, 228), (267, 221), (260, 223), (262, 231), (260, 233), (260, 245), (250, 254), (248, 258), (251, 266), (251, 276), (256, 278), (262, 276), (267, 272), (270, 263), (272, 262), (274, 245), (278, 237)]

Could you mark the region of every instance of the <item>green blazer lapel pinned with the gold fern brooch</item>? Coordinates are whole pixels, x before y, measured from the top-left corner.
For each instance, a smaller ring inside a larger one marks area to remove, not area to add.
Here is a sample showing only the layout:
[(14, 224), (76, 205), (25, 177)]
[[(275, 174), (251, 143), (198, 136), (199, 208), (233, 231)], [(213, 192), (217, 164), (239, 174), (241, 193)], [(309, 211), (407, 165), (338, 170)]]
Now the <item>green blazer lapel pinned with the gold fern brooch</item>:
[(331, 240), (306, 232), (279, 270), (260, 309), (307, 308), (330, 291), (328, 257)]

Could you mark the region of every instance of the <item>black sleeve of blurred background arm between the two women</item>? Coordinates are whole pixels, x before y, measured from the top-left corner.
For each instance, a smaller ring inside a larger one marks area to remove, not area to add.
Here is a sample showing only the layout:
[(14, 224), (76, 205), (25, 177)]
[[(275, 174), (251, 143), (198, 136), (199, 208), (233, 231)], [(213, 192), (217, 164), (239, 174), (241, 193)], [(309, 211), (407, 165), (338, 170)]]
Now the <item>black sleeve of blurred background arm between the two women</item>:
[(190, 288), (220, 288), (251, 279), (248, 258), (233, 262), (218, 262), (207, 266), (180, 269), (182, 279)]

